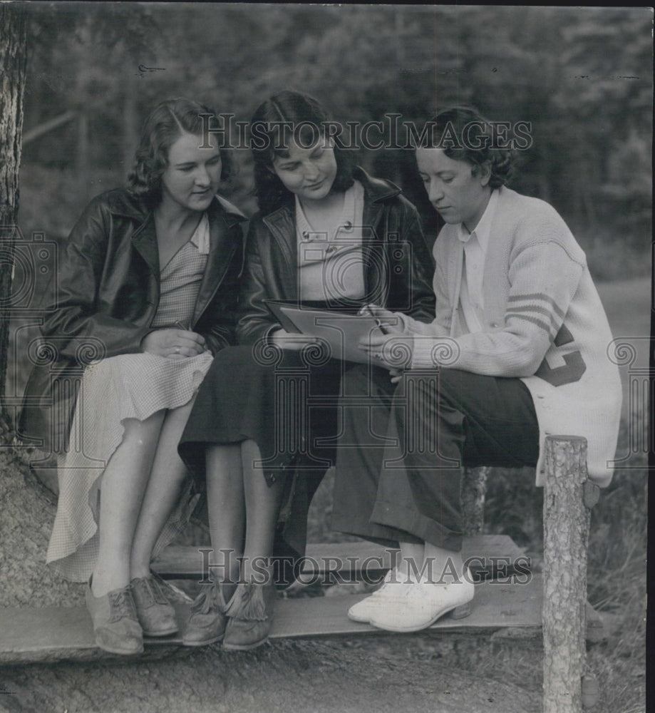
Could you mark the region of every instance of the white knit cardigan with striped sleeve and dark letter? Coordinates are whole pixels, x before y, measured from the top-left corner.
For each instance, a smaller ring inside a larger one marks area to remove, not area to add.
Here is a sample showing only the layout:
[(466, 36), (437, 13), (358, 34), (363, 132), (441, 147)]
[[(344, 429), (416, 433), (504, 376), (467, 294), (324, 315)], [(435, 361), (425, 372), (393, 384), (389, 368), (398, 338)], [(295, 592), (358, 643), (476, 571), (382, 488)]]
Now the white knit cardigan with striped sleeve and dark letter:
[(589, 476), (607, 486), (622, 389), (584, 252), (551, 205), (509, 188), (497, 193), (483, 277), (483, 332), (468, 332), (459, 319), (463, 244), (457, 226), (445, 225), (433, 250), (435, 320), (401, 317), (413, 337), (411, 366), (519, 377), (539, 421), (537, 485), (543, 484), (544, 438), (553, 434), (587, 438)]

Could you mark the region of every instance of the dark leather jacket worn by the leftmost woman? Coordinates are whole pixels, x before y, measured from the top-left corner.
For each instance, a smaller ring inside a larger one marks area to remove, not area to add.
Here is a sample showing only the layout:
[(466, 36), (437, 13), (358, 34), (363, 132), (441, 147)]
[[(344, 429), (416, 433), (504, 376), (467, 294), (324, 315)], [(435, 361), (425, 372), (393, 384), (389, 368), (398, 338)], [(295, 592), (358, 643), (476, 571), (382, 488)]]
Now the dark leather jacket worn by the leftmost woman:
[[(216, 354), (235, 342), (244, 260), (240, 224), (245, 218), (218, 198), (207, 212), (210, 253), (190, 328), (202, 334)], [(64, 381), (79, 377), (89, 361), (140, 352), (141, 340), (152, 331), (150, 322), (160, 294), (153, 213), (125, 190), (111, 190), (94, 198), (73, 227), (62, 253), (53, 292), (56, 304), (43, 309), (41, 332), (46, 347), (35, 359), (17, 429), (24, 441), (43, 439), (48, 451), (53, 441), (61, 446), (68, 426), (50, 423), (54, 409), (61, 411), (61, 399), (53, 401), (55, 389), (65, 399)], [(64, 409), (68, 419), (71, 406), (68, 403)]]

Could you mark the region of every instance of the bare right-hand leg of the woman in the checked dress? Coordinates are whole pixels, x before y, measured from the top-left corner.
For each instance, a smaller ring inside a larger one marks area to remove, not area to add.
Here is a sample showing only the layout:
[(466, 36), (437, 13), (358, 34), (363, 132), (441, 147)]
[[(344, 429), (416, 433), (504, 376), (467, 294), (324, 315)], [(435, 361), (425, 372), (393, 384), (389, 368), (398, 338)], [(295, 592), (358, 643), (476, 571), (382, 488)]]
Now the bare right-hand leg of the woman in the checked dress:
[(138, 516), (130, 558), (130, 578), (147, 577), (150, 559), (166, 520), (180, 497), (187, 468), (177, 455), (177, 443), (187, 423), (193, 401), (166, 412), (148, 486)]

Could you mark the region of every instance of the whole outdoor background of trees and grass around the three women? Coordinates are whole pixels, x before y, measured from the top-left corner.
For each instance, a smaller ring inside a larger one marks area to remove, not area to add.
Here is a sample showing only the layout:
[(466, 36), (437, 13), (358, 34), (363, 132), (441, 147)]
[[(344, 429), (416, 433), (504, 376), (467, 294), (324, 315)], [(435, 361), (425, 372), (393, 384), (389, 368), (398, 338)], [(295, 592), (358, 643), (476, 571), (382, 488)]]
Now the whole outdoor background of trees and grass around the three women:
[[(123, 185), (140, 123), (164, 98), (199, 99), (248, 121), (264, 98), (296, 88), (329, 106), (336, 120), (384, 121), (396, 113), (417, 125), (445, 106), (472, 104), (492, 120), (531, 123), (532, 146), (520, 152), (512, 188), (551, 202), (564, 217), (587, 253), (614, 336), (647, 364), (650, 9), (102, 2), (27, 8), (19, 210), (25, 244), (17, 246), (18, 255), (36, 255), (35, 239), (61, 244), (93, 195)], [(252, 215), (252, 159), (248, 150), (235, 155), (239, 170), (222, 193)], [(401, 185), (434, 240), (437, 219), (413, 152), (361, 150), (356, 158)], [(45, 275), (52, 265), (43, 267)], [(15, 299), (38, 299), (43, 275), (18, 260)], [(9, 356), (6, 404), (19, 402), (26, 376), (24, 350), (33, 329), (25, 324), (12, 324), (20, 334)], [(644, 379), (636, 399), (629, 394), (633, 366), (625, 361), (622, 369), (629, 396), (617, 454), (622, 460), (594, 508), (589, 548), (589, 600), (614, 622), (609, 640), (589, 654), (602, 683), (598, 710), (608, 713), (645, 710), (646, 460), (652, 435)], [(522, 471), (494, 473), (485, 527), (511, 535), (538, 569), (542, 493), (532, 482)], [(324, 485), (312, 506), (314, 540), (334, 537), (329, 483)], [(410, 659), (448, 658), (464, 670), (526, 687), (540, 684), (540, 664), (527, 650), (517, 661), (517, 652), (482, 642), (462, 646), (458, 654), (428, 639), (399, 641), (378, 647)]]

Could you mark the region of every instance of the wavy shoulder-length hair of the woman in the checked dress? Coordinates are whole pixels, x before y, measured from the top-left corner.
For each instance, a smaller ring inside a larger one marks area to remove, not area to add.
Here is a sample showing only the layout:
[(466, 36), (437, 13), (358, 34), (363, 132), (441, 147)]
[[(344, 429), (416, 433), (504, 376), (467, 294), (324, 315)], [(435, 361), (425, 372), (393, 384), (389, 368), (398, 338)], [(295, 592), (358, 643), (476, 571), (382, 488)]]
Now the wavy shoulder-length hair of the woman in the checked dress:
[[(217, 116), (209, 106), (185, 98), (167, 99), (155, 107), (143, 122), (134, 166), (128, 175), (130, 193), (143, 198), (151, 207), (158, 205), (170, 147), (183, 133), (203, 135), (201, 114)], [(224, 146), (220, 148), (220, 155), (221, 180), (227, 180), (232, 175), (232, 160)]]

